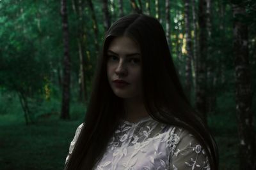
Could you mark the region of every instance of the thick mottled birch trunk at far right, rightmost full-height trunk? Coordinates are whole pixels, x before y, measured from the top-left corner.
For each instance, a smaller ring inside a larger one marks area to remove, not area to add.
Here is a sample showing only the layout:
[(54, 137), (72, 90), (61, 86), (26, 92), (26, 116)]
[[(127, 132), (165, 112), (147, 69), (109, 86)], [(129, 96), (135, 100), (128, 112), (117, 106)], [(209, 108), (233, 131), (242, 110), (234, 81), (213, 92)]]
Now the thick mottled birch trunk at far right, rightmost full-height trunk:
[[(234, 64), (236, 68), (236, 113), (239, 134), (240, 169), (255, 169), (255, 136), (253, 134), (252, 84), (248, 56), (248, 27), (244, 24), (246, 11), (241, 3), (233, 2)], [(243, 20), (241, 20), (243, 18)]]

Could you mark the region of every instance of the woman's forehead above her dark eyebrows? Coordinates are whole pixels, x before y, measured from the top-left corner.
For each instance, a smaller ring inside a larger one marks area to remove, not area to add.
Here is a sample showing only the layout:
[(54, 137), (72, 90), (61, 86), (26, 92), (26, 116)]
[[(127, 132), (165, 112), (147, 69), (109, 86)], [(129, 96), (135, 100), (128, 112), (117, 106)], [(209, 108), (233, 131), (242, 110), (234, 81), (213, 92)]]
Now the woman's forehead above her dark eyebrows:
[(109, 43), (108, 50), (115, 53), (140, 53), (140, 46), (128, 36), (118, 36)]

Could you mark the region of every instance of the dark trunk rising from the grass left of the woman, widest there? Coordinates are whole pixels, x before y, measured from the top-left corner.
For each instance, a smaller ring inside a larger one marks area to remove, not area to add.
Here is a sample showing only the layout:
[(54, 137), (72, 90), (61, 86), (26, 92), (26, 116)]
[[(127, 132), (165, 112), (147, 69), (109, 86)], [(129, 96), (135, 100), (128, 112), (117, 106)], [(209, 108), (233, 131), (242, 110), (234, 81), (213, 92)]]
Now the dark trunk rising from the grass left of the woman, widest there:
[(62, 88), (62, 103), (61, 103), (61, 119), (69, 119), (70, 105), (70, 56), (68, 49), (68, 15), (67, 15), (67, 0), (61, 0), (61, 18), (63, 31), (63, 88)]

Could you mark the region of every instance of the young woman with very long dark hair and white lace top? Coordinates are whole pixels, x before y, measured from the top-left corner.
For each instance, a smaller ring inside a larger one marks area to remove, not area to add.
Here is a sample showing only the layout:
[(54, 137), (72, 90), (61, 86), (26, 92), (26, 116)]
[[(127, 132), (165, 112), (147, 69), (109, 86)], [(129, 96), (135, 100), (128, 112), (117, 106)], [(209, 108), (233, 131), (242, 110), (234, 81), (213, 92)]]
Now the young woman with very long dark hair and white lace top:
[(65, 169), (218, 169), (216, 143), (184, 95), (155, 18), (127, 15), (107, 32)]

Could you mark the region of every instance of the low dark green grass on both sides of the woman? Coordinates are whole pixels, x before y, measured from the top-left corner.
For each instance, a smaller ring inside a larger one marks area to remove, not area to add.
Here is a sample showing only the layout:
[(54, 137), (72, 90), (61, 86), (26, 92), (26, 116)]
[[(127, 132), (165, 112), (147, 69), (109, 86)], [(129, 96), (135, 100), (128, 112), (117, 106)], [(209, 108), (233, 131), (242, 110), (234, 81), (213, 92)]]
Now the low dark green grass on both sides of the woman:
[[(33, 125), (25, 125), (24, 122), (1, 124), (1, 169), (63, 169), (68, 146), (79, 124), (77, 120), (66, 122), (57, 117), (40, 120)], [(221, 170), (236, 170), (238, 167), (238, 139), (234, 129), (230, 130), (221, 132), (221, 125), (214, 130)]]

